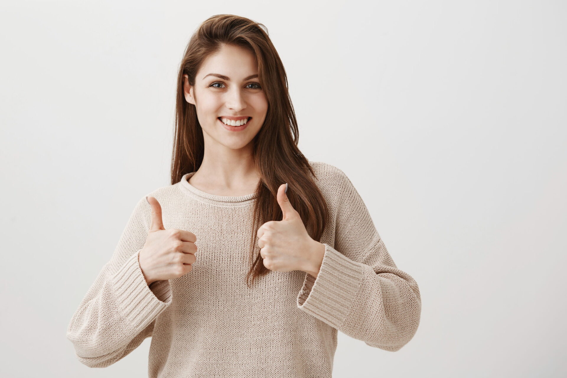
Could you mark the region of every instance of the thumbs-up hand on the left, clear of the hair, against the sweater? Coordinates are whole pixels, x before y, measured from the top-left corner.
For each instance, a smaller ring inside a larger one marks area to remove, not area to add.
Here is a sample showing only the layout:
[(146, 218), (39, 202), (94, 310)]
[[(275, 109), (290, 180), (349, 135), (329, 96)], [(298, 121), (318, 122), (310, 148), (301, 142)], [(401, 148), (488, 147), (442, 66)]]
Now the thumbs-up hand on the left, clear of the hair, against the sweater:
[(170, 228), (162, 221), (162, 206), (154, 197), (146, 197), (151, 206), (151, 224), (146, 243), (139, 253), (139, 265), (147, 284), (161, 279), (178, 278), (193, 269), (197, 237), (193, 232)]

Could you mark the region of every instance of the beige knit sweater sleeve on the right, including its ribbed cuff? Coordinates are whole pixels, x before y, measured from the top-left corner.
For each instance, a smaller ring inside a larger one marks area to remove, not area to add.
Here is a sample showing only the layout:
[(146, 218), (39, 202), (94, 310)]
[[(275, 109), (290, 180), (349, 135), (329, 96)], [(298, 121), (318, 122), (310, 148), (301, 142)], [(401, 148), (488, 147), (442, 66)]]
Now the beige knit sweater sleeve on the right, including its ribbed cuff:
[(340, 169), (335, 245), (325, 245), (317, 277), (306, 274), (299, 309), (371, 347), (400, 350), (417, 332), (421, 296), (397, 269), (369, 211)]

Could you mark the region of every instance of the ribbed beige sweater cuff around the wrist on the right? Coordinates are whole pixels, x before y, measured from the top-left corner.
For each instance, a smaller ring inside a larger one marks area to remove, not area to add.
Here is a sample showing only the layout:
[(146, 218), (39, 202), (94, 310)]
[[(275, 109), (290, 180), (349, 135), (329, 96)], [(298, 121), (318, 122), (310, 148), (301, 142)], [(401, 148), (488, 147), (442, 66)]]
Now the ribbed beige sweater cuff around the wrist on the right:
[(306, 273), (297, 296), (297, 307), (338, 329), (362, 284), (364, 268), (330, 245), (323, 244), (325, 254), (317, 278)]

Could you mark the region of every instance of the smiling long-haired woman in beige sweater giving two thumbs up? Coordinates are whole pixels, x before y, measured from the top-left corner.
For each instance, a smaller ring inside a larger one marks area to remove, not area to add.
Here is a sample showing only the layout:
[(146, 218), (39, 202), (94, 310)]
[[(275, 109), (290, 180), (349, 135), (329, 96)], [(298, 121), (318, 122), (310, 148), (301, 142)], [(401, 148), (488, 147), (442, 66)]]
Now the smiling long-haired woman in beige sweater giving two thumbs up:
[(337, 330), (387, 351), (416, 333), (416, 281), (345, 173), (298, 150), (263, 28), (215, 15), (189, 41), (171, 185), (138, 201), (71, 319), (83, 364), (152, 337), (150, 377), (331, 377)]

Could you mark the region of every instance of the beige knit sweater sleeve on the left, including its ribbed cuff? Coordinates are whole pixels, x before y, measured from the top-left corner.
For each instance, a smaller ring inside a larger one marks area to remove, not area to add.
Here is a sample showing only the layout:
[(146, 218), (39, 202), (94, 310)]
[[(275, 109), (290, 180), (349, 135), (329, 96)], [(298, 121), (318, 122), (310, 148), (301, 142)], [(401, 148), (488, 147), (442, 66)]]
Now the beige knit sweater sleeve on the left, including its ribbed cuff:
[(150, 337), (155, 319), (172, 301), (168, 280), (148, 285), (139, 266), (150, 205), (138, 201), (111, 259), (88, 289), (69, 326), (67, 339), (88, 367), (107, 367)]

